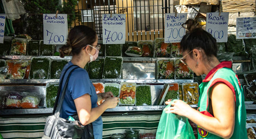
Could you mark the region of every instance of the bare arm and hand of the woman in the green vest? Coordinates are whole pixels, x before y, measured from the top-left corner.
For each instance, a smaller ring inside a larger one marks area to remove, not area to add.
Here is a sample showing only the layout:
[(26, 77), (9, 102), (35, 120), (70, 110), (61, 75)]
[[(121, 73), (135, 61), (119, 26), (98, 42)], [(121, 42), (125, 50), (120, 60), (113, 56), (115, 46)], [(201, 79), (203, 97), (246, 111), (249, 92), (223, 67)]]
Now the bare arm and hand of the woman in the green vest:
[(172, 104), (174, 107), (169, 107), (168, 112), (186, 116), (204, 130), (229, 139), (234, 132), (235, 123), (234, 93), (222, 82), (214, 84), (212, 88), (210, 97), (214, 117), (203, 115), (183, 101), (175, 101)]

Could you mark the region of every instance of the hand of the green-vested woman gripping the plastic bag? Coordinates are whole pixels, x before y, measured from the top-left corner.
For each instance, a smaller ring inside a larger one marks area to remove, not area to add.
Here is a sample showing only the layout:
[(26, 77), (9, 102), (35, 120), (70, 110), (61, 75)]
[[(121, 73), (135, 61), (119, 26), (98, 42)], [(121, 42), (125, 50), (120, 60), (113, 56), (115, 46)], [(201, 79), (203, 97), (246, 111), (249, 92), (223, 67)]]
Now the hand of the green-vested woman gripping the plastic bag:
[[(171, 99), (165, 102), (166, 105), (170, 104)], [(182, 100), (176, 100), (175, 102), (172, 102), (173, 107), (164, 108), (165, 113), (175, 113), (180, 116), (187, 117), (189, 110), (191, 110), (191, 107), (186, 104)]]

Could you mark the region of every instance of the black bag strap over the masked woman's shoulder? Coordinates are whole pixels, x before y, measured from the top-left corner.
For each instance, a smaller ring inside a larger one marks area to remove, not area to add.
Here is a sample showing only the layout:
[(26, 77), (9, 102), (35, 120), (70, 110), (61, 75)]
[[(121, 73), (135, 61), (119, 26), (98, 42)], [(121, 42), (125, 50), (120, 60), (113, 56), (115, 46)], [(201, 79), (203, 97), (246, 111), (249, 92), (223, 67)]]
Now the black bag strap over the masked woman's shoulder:
[[(59, 89), (58, 89), (56, 101), (55, 101), (54, 108), (53, 108), (53, 114), (56, 112), (56, 109), (57, 109), (57, 106), (58, 106), (58, 103), (59, 103), (59, 97), (60, 97), (60, 95), (61, 95), (61, 89), (62, 89), (62, 83), (63, 83), (64, 77), (65, 77), (67, 71), (68, 71), (71, 67), (74, 67), (74, 66), (76, 66), (74, 69), (79, 68), (77, 65), (71, 65), (71, 66), (69, 66), (69, 67), (67, 68), (67, 70), (64, 72), (64, 74), (63, 74), (63, 76), (62, 76), (62, 78), (61, 78), (61, 82), (60, 82), (60, 84), (59, 84)], [(65, 82), (65, 85), (67, 84), (67, 82), (68, 82), (68, 80), (69, 80), (69, 77), (70, 77), (71, 73), (74, 71), (74, 69), (70, 71), (70, 73), (69, 73), (69, 75), (68, 75), (68, 77), (67, 77), (67, 80), (66, 80), (66, 82)], [(67, 87), (67, 86), (64, 86), (62, 92), (64, 92), (64, 90), (66, 90), (65, 87)], [(61, 99), (62, 99), (63, 94), (64, 94), (64, 96), (65, 96), (65, 92), (62, 93)], [(64, 97), (63, 97), (63, 100), (64, 100)], [(63, 100), (62, 100), (62, 102), (63, 102)], [(61, 102), (60, 105), (62, 105), (62, 102)]]

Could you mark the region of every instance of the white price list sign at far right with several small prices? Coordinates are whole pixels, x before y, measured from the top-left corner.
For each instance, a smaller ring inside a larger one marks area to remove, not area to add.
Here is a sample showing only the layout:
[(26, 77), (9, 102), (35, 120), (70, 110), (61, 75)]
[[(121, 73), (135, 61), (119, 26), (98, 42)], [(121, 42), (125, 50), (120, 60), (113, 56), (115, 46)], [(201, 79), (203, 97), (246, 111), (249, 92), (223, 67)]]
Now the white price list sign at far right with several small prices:
[(256, 17), (236, 18), (236, 38), (256, 38)]

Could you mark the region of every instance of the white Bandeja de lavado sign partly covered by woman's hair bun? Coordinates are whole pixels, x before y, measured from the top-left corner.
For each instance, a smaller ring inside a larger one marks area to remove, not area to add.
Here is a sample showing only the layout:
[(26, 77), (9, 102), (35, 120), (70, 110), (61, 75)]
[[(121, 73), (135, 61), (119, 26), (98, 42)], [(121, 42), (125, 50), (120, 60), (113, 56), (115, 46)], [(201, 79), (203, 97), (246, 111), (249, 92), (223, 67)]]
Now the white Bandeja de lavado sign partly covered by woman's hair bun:
[(164, 22), (164, 43), (178, 43), (182, 40), (182, 37), (186, 34), (185, 28), (182, 24), (187, 20), (187, 14), (175, 13), (165, 14)]

